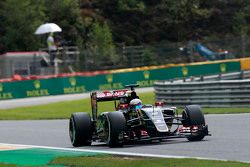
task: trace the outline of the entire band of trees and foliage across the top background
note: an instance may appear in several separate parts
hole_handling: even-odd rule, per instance
[[[42,23],[62,27],[58,36],[115,63],[113,43],[155,44],[247,35],[246,0],[1,0],[0,52],[37,50]],[[81,14],[85,10],[85,15]],[[107,56],[108,55],[108,56]]]

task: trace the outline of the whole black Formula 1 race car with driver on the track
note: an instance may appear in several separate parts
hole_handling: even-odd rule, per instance
[[[100,141],[117,147],[134,141],[183,137],[200,141],[209,135],[200,106],[186,106],[179,116],[176,107],[166,106],[163,102],[142,105],[134,90],[137,86],[92,92],[92,117],[87,112],[71,115],[69,134],[72,145],[89,146],[92,141]],[[98,114],[97,104],[102,101],[114,101],[115,111]]]

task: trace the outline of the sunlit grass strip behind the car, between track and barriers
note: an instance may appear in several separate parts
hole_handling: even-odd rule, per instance
[[[154,93],[141,93],[140,98],[144,104],[154,103]],[[98,110],[113,111],[113,102],[101,102]],[[35,119],[67,119],[74,112],[91,112],[90,99],[65,101],[47,105],[20,107],[0,110],[1,120],[35,120]],[[250,108],[204,108],[205,114],[250,113]]]

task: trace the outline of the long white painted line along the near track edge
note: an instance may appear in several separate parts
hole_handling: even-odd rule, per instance
[[[48,146],[36,146],[36,145],[23,145],[23,144],[7,144],[0,143],[0,145],[12,146],[12,147],[24,147],[27,148],[42,148],[42,149],[53,149],[61,151],[75,151],[75,152],[90,152],[90,153],[102,153],[102,154],[113,154],[113,155],[124,155],[124,156],[139,156],[139,157],[149,157],[149,158],[177,158],[177,159],[199,159],[199,160],[218,160],[218,161],[230,161],[226,159],[216,159],[216,158],[204,158],[204,157],[193,157],[193,156],[175,156],[175,155],[160,155],[160,154],[142,154],[142,153],[132,153],[132,152],[117,152],[117,151],[101,151],[101,150],[90,150],[90,149],[80,149],[80,148],[61,148],[61,147],[48,147]],[[250,163],[250,161],[238,161]]]

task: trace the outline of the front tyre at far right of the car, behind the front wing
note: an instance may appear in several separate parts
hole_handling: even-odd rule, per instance
[[[199,129],[205,127],[205,117],[199,105],[186,106],[182,113],[182,124],[185,127],[198,126]],[[187,137],[189,141],[200,141],[205,137],[205,133],[198,131]]]

